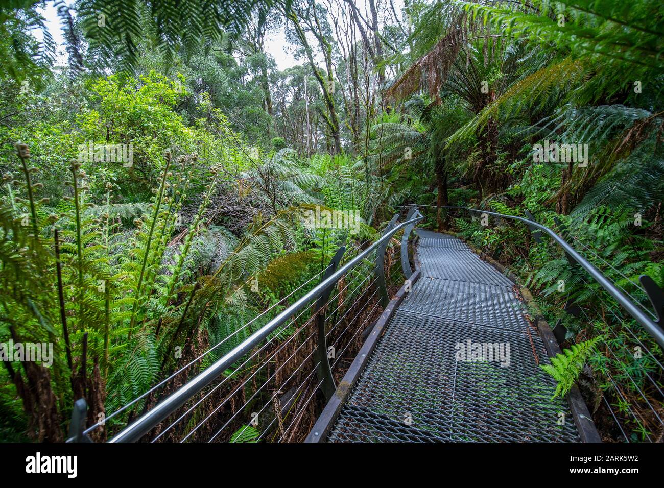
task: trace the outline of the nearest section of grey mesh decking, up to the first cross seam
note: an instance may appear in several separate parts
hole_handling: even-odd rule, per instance
[[[509,343],[509,366],[456,361],[456,344]],[[540,359],[542,340],[533,333]],[[578,442],[526,333],[396,311],[331,442]],[[558,425],[560,412],[566,422]]]

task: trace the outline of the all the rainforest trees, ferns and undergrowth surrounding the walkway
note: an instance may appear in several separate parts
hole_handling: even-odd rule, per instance
[[[0,440],[64,441],[78,398],[90,437],[110,438],[317,284],[341,244],[353,256],[422,204],[420,225],[507,266],[563,331],[556,394],[576,384],[607,442],[662,442],[647,331],[552,240],[441,208],[530,212],[653,315],[639,276],[664,286],[661,1],[9,0],[0,33],[0,342],[54,348],[50,366],[3,361]],[[307,228],[315,208],[359,221]],[[362,271],[339,294],[374,311]],[[217,440],[306,436],[315,384],[266,435],[242,411],[305,382],[258,361],[299,357],[300,325],[205,399],[234,415]]]

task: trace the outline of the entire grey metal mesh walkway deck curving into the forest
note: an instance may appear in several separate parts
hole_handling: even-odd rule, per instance
[[[533,354],[548,361],[544,343],[513,284],[461,240],[418,234],[422,278],[392,315],[328,440],[578,441],[567,402],[550,400],[555,382]],[[480,350],[481,361],[471,354]]]

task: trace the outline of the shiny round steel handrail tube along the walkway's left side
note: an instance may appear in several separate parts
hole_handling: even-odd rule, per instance
[[[238,359],[244,357],[244,355],[261,343],[280,325],[284,324],[292,315],[303,309],[307,303],[317,299],[323,295],[327,289],[333,287],[340,278],[347,274],[349,270],[355,268],[357,264],[361,263],[362,260],[371,254],[371,252],[377,250],[379,246],[386,244],[396,232],[405,226],[408,226],[408,224],[419,222],[423,218],[422,214],[420,214],[419,216],[415,216],[414,218],[406,220],[405,222],[389,229],[379,240],[371,244],[371,246],[347,262],[347,264],[327,276],[327,278],[321,281],[319,285],[305,293],[305,295],[297,299],[293,305],[290,305],[290,307],[282,311],[282,313],[271,319],[266,325],[247,337],[242,343],[234,347],[234,349],[226,353],[222,358],[208,366],[203,372],[199,373],[177,391],[164,398],[164,400],[159,402],[154,408],[145,412],[145,414],[124,428],[124,430],[119,432],[109,442],[134,442],[139,440],[143,435],[147,434],[147,432],[150,432],[150,430],[157,426],[159,422],[165,420],[165,418],[168,418],[173,412],[175,412],[175,410],[183,406],[195,394],[201,392],[205,386],[218,378],[222,372],[238,361]]]

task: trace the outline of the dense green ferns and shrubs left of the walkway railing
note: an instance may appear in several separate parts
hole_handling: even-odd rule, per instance
[[[349,159],[306,161],[289,149],[252,159],[256,148],[220,112],[187,125],[172,111],[186,93],[154,73],[124,84],[101,80],[89,93],[98,106],[66,135],[44,141],[33,127],[3,135],[6,145],[29,141],[16,146],[3,178],[3,336],[56,344],[52,368],[35,365],[23,376],[5,363],[7,438],[62,440],[77,398],[88,400],[95,424],[224,341],[197,366],[205,368],[272,317],[256,319],[261,311],[282,309],[284,296],[325,268],[342,241],[376,235],[367,224],[376,218],[366,206],[371,189]],[[117,131],[110,140],[131,132],[131,166],[80,162],[72,151],[100,140],[91,127],[104,118]],[[157,154],[165,142],[140,142],[152,127],[172,149]],[[46,163],[49,151],[61,162]],[[67,171],[54,173],[60,165]],[[306,229],[303,214],[316,206],[357,210],[357,228]],[[106,428],[124,425],[145,401]]]

